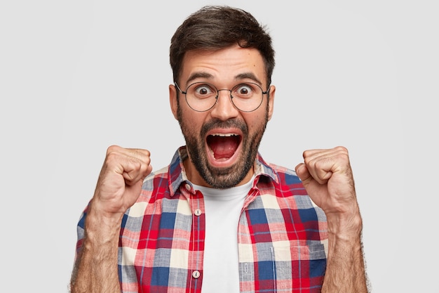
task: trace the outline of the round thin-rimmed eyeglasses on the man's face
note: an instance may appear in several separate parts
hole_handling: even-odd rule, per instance
[[[269,91],[252,82],[237,84],[232,89],[217,89],[213,84],[195,82],[190,84],[186,91],[182,91],[177,83],[177,89],[186,96],[186,103],[192,110],[205,112],[213,108],[217,103],[219,91],[230,91],[230,100],[235,108],[241,112],[255,111],[262,104],[264,95]]]

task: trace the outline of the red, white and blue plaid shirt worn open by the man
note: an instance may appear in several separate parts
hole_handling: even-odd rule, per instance
[[[170,166],[145,178],[139,199],[123,216],[118,257],[123,292],[201,292],[204,202],[184,173],[186,158],[182,147]],[[78,225],[77,252],[86,212]],[[241,292],[320,292],[325,214],[294,171],[266,164],[258,155],[237,228]]]

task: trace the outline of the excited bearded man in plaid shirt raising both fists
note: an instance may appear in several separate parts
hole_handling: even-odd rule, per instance
[[[257,151],[276,93],[264,28],[206,6],[175,32],[170,64],[186,146],[153,173],[148,150],[108,148],[72,292],[367,292],[346,148],[307,150],[295,171]]]

